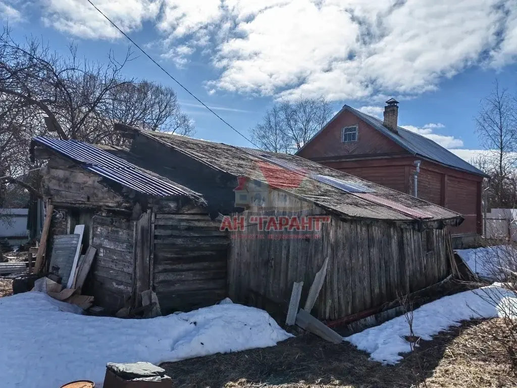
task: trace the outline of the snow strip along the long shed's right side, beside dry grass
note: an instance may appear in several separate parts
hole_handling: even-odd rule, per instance
[[[517,311],[517,299],[514,296],[496,284],[445,296],[415,309],[413,332],[423,340],[430,340],[433,335],[450,326],[459,326],[461,321],[500,316],[501,311],[505,311],[505,306],[509,304],[513,304],[511,311]],[[411,351],[409,342],[404,339],[408,335],[406,318],[400,316],[346,337],[345,340],[370,353],[370,358],[374,361],[396,364],[402,359],[400,353]]]

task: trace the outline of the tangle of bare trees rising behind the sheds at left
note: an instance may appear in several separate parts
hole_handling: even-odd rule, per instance
[[[79,59],[71,45],[60,55],[29,38],[20,44],[8,29],[0,34],[0,206],[8,185],[39,195],[17,176],[29,170],[29,143],[47,135],[89,143],[123,144],[113,130],[123,122],[151,130],[192,135],[194,127],[181,112],[172,88],[125,78],[122,61],[110,52],[106,64]],[[38,167],[38,166],[36,166]]]

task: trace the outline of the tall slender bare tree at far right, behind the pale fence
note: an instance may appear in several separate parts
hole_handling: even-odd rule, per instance
[[[506,89],[499,88],[497,81],[493,92],[481,102],[476,124],[486,150],[483,167],[491,176],[492,203],[505,207],[505,185],[517,161],[517,103]]]

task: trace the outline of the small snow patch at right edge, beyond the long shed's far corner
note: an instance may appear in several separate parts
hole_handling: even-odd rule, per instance
[[[502,280],[503,267],[510,267],[509,269],[513,270],[517,264],[517,252],[510,245],[458,249],[456,252],[470,268],[470,271],[489,281]]]

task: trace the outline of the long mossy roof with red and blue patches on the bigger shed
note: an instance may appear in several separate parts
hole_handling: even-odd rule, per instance
[[[138,130],[143,135],[166,146],[189,155],[214,169],[235,176],[247,176],[292,193],[304,200],[328,210],[353,218],[414,221],[424,219],[453,220],[459,222],[458,213],[432,203],[408,196],[404,193],[361,180],[342,171],[319,165],[295,155],[252,150],[223,143],[191,139],[168,133]],[[264,171],[264,164],[268,171]],[[300,174],[287,173],[286,170],[300,171]],[[300,175],[303,175],[300,178]],[[370,193],[347,192],[318,179],[317,175],[329,176],[351,184],[366,186]],[[278,178],[282,185],[271,184]],[[291,180],[291,182],[290,182]],[[418,217],[416,212],[425,213]],[[451,221],[452,222],[452,221]]]

